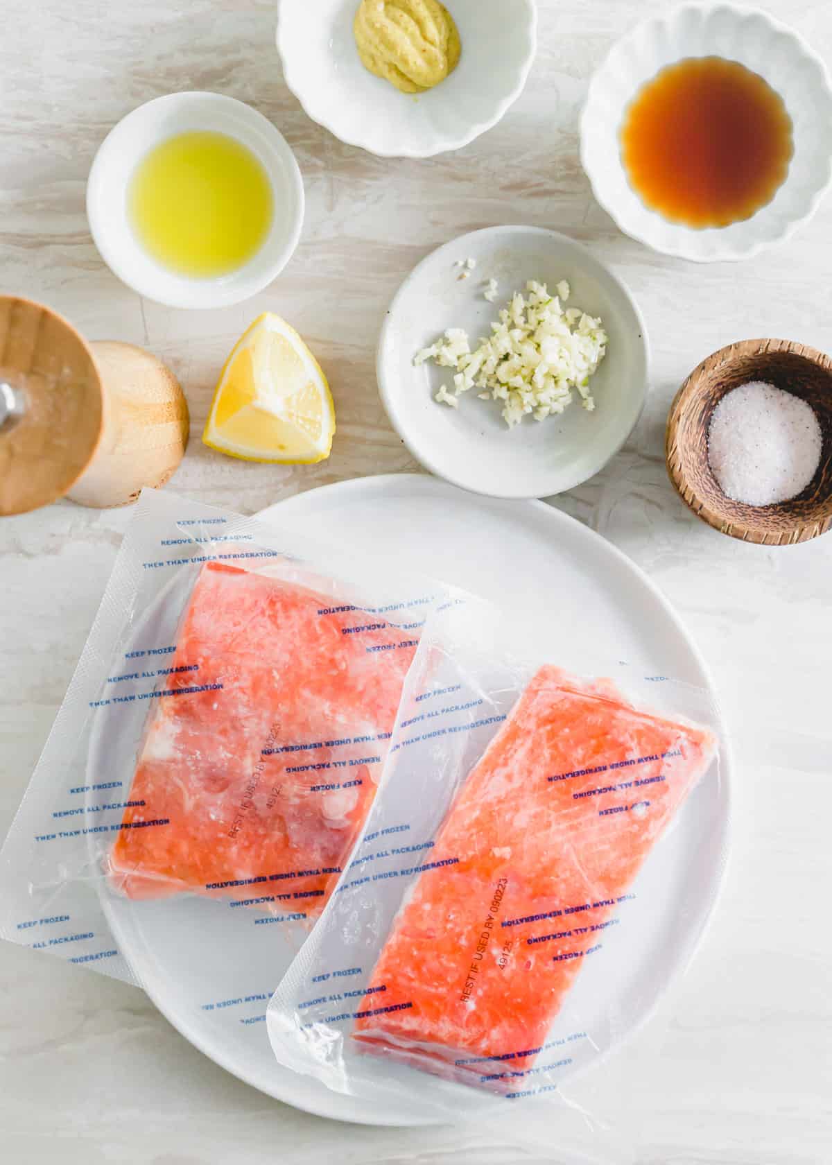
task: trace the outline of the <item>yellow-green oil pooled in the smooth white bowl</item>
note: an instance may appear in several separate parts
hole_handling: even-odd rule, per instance
[[[262,163],[227,134],[192,130],[154,147],[131,179],[128,213],[148,254],[178,275],[237,270],[272,225],[272,184]]]

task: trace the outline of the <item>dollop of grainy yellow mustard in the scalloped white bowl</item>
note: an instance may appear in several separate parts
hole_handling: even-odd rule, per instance
[[[361,0],[355,13],[361,63],[403,93],[421,93],[457,68],[460,43],[439,0]]]

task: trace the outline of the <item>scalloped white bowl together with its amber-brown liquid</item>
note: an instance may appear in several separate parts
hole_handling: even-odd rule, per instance
[[[593,76],[580,157],[626,234],[698,262],[749,259],[790,238],[830,185],[826,69],[768,13],[674,7]]]

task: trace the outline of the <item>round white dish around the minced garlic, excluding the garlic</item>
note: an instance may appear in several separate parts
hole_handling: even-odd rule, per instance
[[[475,260],[460,281],[459,260]],[[488,303],[484,281],[499,281]],[[432,361],[414,366],[419,348],[446,327],[463,327],[473,344],[528,280],[571,288],[566,306],[600,316],[607,354],[591,380],[595,409],[573,401],[559,416],[526,417],[508,429],[498,401],[477,389],[452,409],[433,400],[452,372]],[[379,389],[390,423],[422,465],[463,489],[493,497],[547,497],[591,478],[616,453],[647,394],[648,343],[641,312],[625,285],[580,243],[556,231],[495,226],[445,243],[418,263],[395,295],[379,340]],[[576,394],[577,396],[577,394]]]

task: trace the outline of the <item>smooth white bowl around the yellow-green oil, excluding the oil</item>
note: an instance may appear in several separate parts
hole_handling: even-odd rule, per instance
[[[175,134],[211,129],[247,146],[262,163],[274,217],[268,235],[242,267],[189,278],[162,267],[131,226],[127,190],[139,162]],[[303,226],[303,179],[283,135],[251,105],[219,93],[171,93],[133,110],[101,142],[86,184],[86,216],[101,257],[139,295],[168,308],[224,308],[261,291],[285,267]]]

